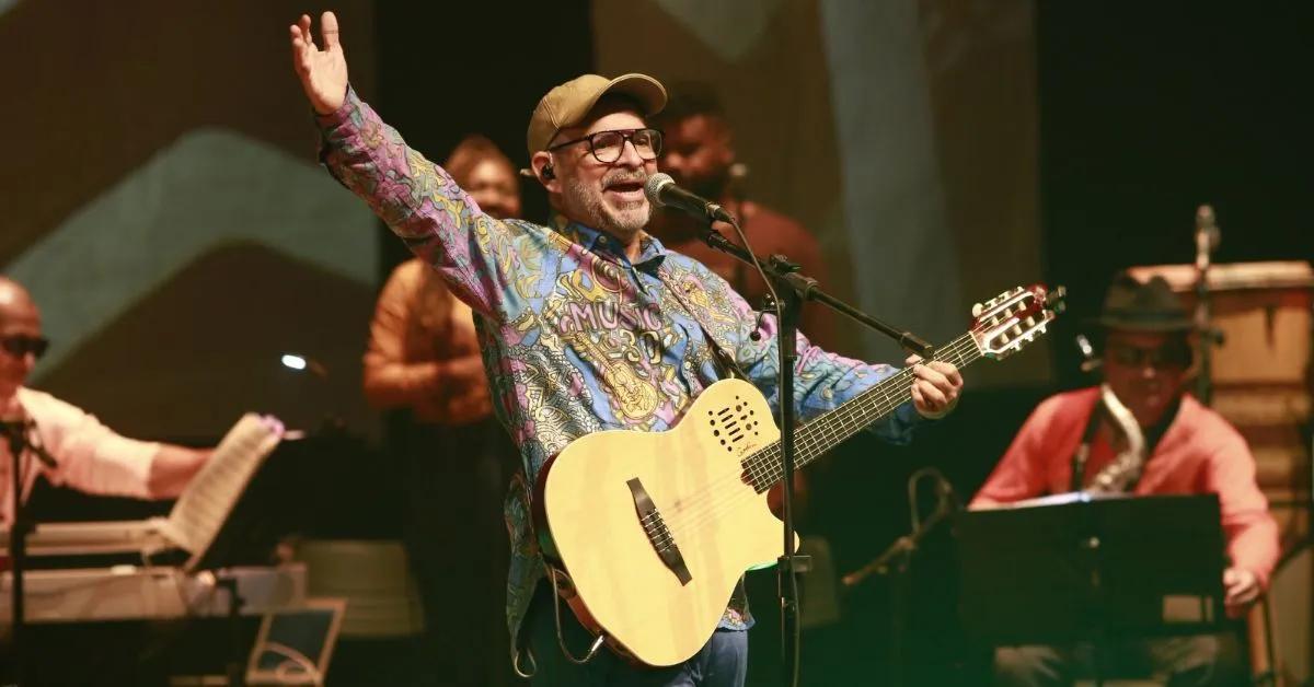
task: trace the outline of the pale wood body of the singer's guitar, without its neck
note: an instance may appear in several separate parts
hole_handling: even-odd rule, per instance
[[[570,561],[572,609],[624,637],[627,653],[644,663],[668,666],[698,653],[744,571],[784,549],[766,490],[741,465],[779,437],[761,391],[723,380],[674,430],[595,432],[566,447],[544,466],[552,478],[539,500],[552,504],[551,556]],[[640,493],[656,514],[640,515]],[[687,578],[664,562],[664,545],[673,564],[678,553]]]

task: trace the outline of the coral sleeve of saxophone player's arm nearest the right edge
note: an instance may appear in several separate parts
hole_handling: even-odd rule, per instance
[[[1277,521],[1255,481],[1255,457],[1235,435],[1209,461],[1205,491],[1218,494],[1227,554],[1235,567],[1255,573],[1268,586],[1280,556]]]

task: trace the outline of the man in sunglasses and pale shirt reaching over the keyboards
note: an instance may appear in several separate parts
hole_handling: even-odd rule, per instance
[[[176,498],[201,469],[210,449],[193,449],[120,436],[95,416],[24,384],[46,351],[41,313],[18,282],[0,277],[0,418],[22,420],[26,439],[54,458],[47,466],[32,451],[22,458],[22,498],[37,474],[88,494],[139,499]],[[13,458],[0,440],[0,520],[12,523]]]

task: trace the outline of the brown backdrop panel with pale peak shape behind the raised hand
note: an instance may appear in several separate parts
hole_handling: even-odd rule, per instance
[[[130,435],[222,433],[247,410],[369,433],[369,209],[315,164],[286,0],[0,4],[0,267],[53,347],[33,386]],[[311,8],[313,9],[313,8]],[[373,11],[335,7],[373,92]],[[284,352],[328,376],[293,373]]]

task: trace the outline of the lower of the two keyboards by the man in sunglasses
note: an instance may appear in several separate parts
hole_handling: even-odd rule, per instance
[[[306,603],[305,564],[233,567],[187,574],[177,567],[116,566],[78,570],[29,570],[22,575],[24,623],[96,623],[168,620],[229,615],[234,579],[239,613],[261,616]],[[0,623],[12,619],[13,577],[0,575]]]

